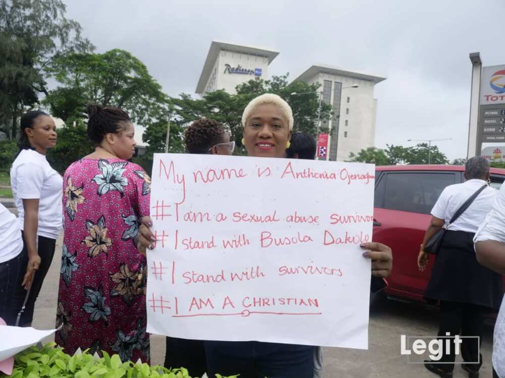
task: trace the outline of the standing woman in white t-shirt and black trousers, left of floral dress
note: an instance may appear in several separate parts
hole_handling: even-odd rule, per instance
[[[44,112],[31,111],[21,117],[19,153],[11,168],[26,266],[14,293],[15,303],[21,302],[23,308],[18,319],[20,326],[31,325],[35,300],[63,228],[63,179],[45,158],[47,149],[56,145],[56,139],[55,122]]]

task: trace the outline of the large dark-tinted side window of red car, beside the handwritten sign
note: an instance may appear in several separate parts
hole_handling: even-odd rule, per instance
[[[385,179],[384,208],[422,214],[429,214],[442,190],[456,183],[453,172],[390,172]]]

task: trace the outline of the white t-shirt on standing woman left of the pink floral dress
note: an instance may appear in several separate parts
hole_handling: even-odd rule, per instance
[[[19,227],[24,230],[23,199],[39,199],[37,235],[56,239],[63,228],[63,178],[45,155],[22,150],[11,168],[12,194],[18,208]]]

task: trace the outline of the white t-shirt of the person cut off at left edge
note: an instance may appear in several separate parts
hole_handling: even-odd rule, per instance
[[[16,215],[2,203],[0,203],[0,235],[2,235],[2,248],[0,248],[0,263],[2,263],[13,259],[23,250],[23,239]]]

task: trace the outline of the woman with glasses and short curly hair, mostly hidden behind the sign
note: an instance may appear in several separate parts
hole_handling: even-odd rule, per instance
[[[218,121],[200,118],[184,133],[184,144],[189,153],[231,155],[235,142]],[[184,366],[192,376],[202,376],[207,371],[203,340],[167,337],[165,367]]]

